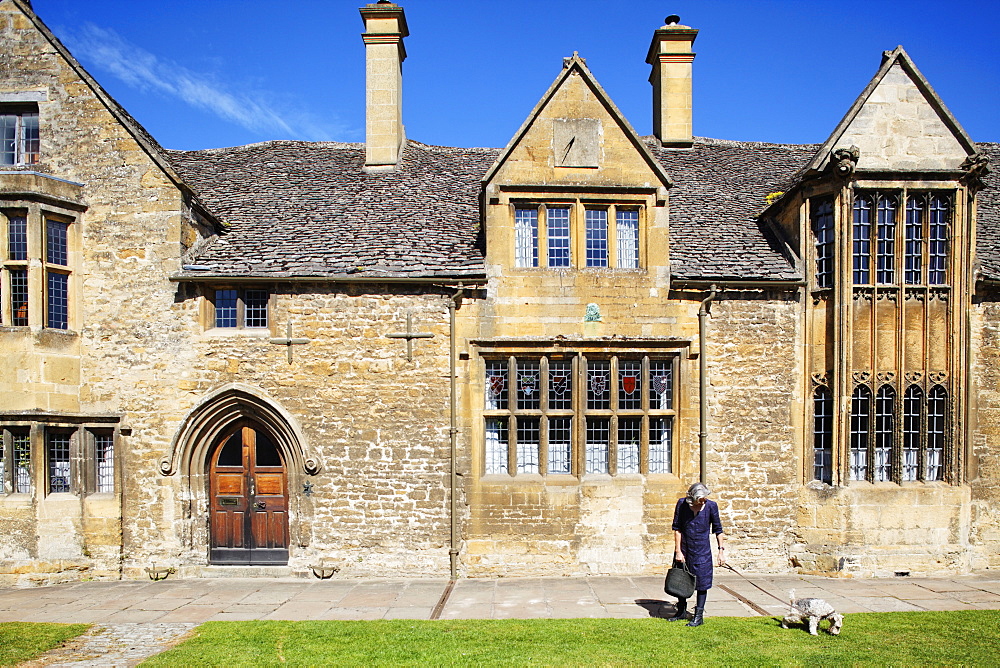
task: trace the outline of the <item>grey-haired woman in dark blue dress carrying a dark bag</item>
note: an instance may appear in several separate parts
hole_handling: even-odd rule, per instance
[[[704,483],[696,482],[688,488],[687,496],[677,500],[674,508],[674,562],[686,563],[697,578],[698,598],[695,602],[694,617],[688,626],[705,623],[705,600],[712,588],[712,542],[711,534],[719,546],[719,566],[726,565],[726,547],[719,518],[719,505],[708,498],[712,491]],[[686,619],[687,599],[677,599],[677,612],[667,621],[678,622]]]

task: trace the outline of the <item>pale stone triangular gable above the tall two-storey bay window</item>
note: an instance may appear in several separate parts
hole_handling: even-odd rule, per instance
[[[956,171],[975,144],[903,47],[883,54],[872,78],[808,169],[837,149],[860,149],[859,171]]]

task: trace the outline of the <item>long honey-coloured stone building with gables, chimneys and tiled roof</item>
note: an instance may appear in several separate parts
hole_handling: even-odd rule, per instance
[[[653,136],[574,54],[463,149],[361,16],[364,144],[170,151],[0,0],[0,585],[657,572],[699,479],[744,569],[1000,566],[1000,146],[901,47],[704,139],[670,17]]]

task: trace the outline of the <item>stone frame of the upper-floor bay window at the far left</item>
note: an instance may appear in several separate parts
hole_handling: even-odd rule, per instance
[[[27,256],[13,259],[11,252],[11,221],[24,218],[27,237]],[[65,225],[65,236],[60,247],[61,260],[50,261],[50,223]],[[5,200],[0,203],[0,326],[17,328],[41,328],[65,333],[79,329],[76,268],[79,262],[78,219],[69,209],[47,202]],[[14,310],[13,277],[23,274],[27,281],[26,320]],[[51,291],[50,277],[64,277],[60,281],[60,294]],[[56,303],[58,299],[58,304]],[[61,306],[64,310],[53,319],[53,309]]]

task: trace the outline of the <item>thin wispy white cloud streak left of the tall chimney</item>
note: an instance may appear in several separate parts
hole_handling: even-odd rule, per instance
[[[320,121],[296,105],[282,108],[266,91],[240,92],[209,74],[193,72],[131,44],[118,33],[86,23],[61,31],[70,51],[144,92],[177,98],[267,138],[331,141],[353,134],[335,119]]]

